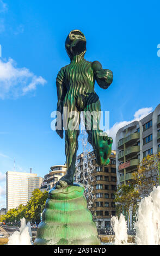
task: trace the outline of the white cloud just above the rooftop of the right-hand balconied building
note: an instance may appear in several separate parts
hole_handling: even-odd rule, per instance
[[[125,125],[128,125],[130,123],[132,123],[133,121],[139,121],[140,119],[146,117],[147,114],[151,113],[152,112],[152,107],[146,107],[146,108],[140,108],[138,109],[138,111],[136,111],[134,113],[134,118],[133,120],[131,121],[121,121],[119,123],[115,123],[109,131],[107,131],[107,134],[108,136],[112,137],[113,138],[113,146],[112,148],[115,149],[115,136],[116,136],[116,133],[118,132],[118,130],[125,126]]]

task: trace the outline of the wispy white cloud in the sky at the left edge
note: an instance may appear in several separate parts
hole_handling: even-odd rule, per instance
[[[36,76],[27,68],[17,68],[16,62],[9,58],[8,62],[0,60],[0,98],[17,98],[36,89],[46,80]]]

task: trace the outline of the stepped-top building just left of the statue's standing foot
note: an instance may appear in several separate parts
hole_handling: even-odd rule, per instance
[[[44,181],[41,184],[41,191],[49,191],[57,181],[66,174],[66,165],[51,166],[48,174],[45,175]]]

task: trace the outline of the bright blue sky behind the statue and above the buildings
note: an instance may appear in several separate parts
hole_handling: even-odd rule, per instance
[[[159,1],[0,0],[0,208],[14,159],[16,170],[32,167],[40,176],[65,162],[64,139],[50,125],[72,29],[87,38],[85,58],[113,71],[107,90],[95,84],[113,138],[159,104],[159,7]]]

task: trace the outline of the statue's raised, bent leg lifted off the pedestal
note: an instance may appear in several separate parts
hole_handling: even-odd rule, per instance
[[[88,133],[88,142],[93,146],[96,162],[100,166],[109,163],[113,140],[100,130],[101,103],[96,93],[91,93],[85,101],[84,123]]]

